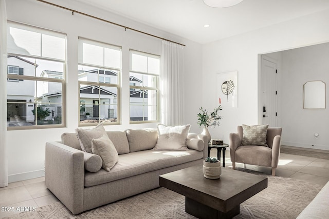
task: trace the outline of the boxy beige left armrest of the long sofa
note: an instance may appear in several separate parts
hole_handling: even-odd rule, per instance
[[[83,211],[84,154],[58,142],[46,143],[45,183],[74,214]]]

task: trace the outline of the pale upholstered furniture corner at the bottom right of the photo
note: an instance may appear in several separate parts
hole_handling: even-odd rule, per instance
[[[324,185],[306,208],[298,215],[298,219],[329,218],[329,182]]]

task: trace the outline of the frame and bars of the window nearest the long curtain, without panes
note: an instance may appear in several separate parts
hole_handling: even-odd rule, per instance
[[[132,63],[133,63],[133,54],[138,54],[138,55],[143,55],[146,57],[152,57],[152,58],[157,58],[159,59],[159,74],[156,73],[149,73],[149,72],[143,72],[143,71],[136,71],[133,70],[132,67]],[[147,76],[155,76],[156,77],[156,86],[155,87],[149,87],[149,86],[136,86],[136,85],[131,85],[131,81],[129,81],[129,95],[131,91],[136,91],[136,89],[141,90],[142,92],[145,90],[155,90],[157,95],[156,95],[156,120],[144,120],[144,107],[145,106],[154,106],[154,105],[145,105],[144,101],[142,102],[141,105],[131,105],[131,101],[130,101],[130,96],[129,96],[129,121],[130,124],[143,124],[143,123],[158,123],[160,121],[160,74],[161,74],[161,57],[160,55],[155,55],[155,54],[151,54],[148,52],[141,52],[138,50],[133,50],[130,49],[130,54],[129,54],[129,59],[130,59],[130,67],[129,67],[129,78],[131,77],[131,73],[136,73],[136,74],[141,74],[141,75],[147,75]],[[134,83],[136,84],[136,83]],[[144,99],[144,97],[143,97]],[[131,106],[142,106],[143,109],[143,120],[141,121],[131,121]]]

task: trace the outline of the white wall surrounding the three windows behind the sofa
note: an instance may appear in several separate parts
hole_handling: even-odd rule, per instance
[[[54,1],[55,2],[55,1]],[[202,46],[187,39],[160,31],[158,29],[130,21],[116,14],[108,13],[92,7],[84,7],[71,1],[56,1],[56,4],[74,10],[108,19],[109,21],[169,38],[185,44],[186,81],[185,102],[187,108],[195,101],[201,101],[200,89],[191,84],[200,82],[202,69]],[[124,130],[127,128],[156,127],[156,124],[129,124],[129,49],[161,54],[161,40],[134,31],[124,30],[83,15],[72,15],[70,11],[56,8],[32,0],[7,0],[7,18],[11,21],[22,22],[64,32],[67,34],[67,90],[66,115],[67,127],[56,129],[15,130],[7,131],[8,139],[8,175],[9,182],[25,180],[44,174],[45,143],[58,141],[63,132],[74,132],[78,127],[78,36],[96,41],[122,46],[122,77],[121,77],[121,110],[122,125],[106,126],[106,130]],[[69,109],[69,110],[67,110]],[[192,123],[196,118],[187,113],[186,121]],[[196,114],[195,114],[196,115]]]

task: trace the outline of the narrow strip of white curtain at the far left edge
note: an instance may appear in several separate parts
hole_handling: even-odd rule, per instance
[[[6,2],[0,0],[0,187],[8,186],[7,164],[7,15]]]

